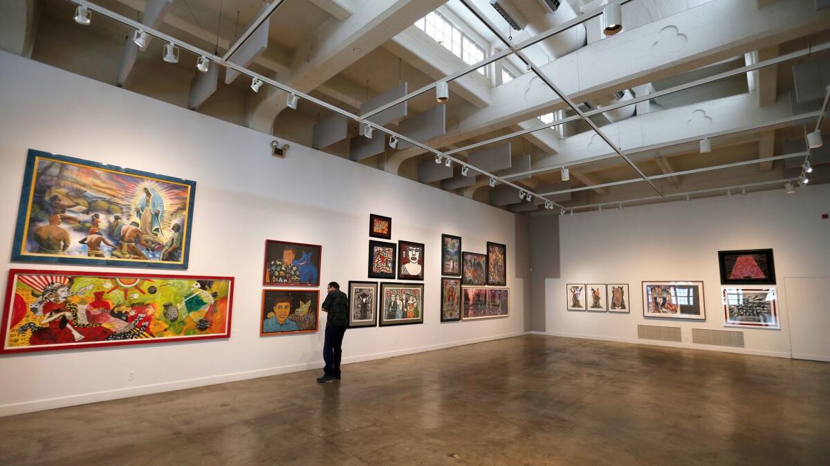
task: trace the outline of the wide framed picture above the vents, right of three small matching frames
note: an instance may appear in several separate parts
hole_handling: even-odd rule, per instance
[[[706,320],[703,282],[642,282],[643,317]]]

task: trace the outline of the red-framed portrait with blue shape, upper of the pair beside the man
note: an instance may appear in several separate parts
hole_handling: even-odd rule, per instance
[[[323,246],[266,240],[263,284],[320,286]]]

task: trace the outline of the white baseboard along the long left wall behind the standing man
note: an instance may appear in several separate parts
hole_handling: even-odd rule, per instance
[[[501,338],[519,337],[525,335],[527,332],[513,332],[502,333],[500,335],[491,335],[488,337],[470,338],[467,340],[460,340],[457,342],[439,343],[436,345],[427,345],[424,347],[413,347],[390,352],[377,352],[374,354],[366,354],[360,356],[344,357],[343,364],[351,364],[354,362],[372,361],[375,359],[383,359],[386,357],[404,356],[407,354],[415,354],[418,352],[435,351],[448,347],[460,347],[472,343],[489,342],[491,340],[499,340]],[[218,376],[198,377],[187,379],[183,381],[169,381],[157,384],[149,384],[144,386],[135,386],[129,388],[119,388],[108,391],[94,391],[90,393],[83,393],[81,395],[61,396],[57,398],[47,398],[44,400],[24,401],[22,403],[11,403],[8,405],[0,405],[0,417],[8,415],[20,415],[30,413],[33,411],[53,410],[56,408],[66,408],[67,406],[85,405],[87,403],[96,403],[99,401],[117,400],[119,398],[129,398],[130,396],[152,395],[154,393],[162,393],[164,391],[177,391],[188,388],[195,388],[198,386],[216,385],[220,383],[227,383],[232,381],[244,381],[247,379],[256,379],[259,377],[277,376],[289,372],[309,371],[311,369],[320,369],[324,366],[322,359],[320,361],[308,362],[303,364],[295,364],[291,366],[269,367],[266,369],[257,369],[255,371],[233,372],[230,374],[221,374]]]

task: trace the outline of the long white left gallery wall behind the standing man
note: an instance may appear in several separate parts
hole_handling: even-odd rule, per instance
[[[323,246],[322,301],[331,280],[344,290],[350,279],[367,280],[369,213],[393,218],[394,241],[425,243],[424,323],[351,329],[344,362],[523,331],[510,212],[294,143],[287,158],[274,158],[273,138],[266,134],[5,52],[0,52],[0,83],[0,218],[5,219],[0,264],[5,269],[236,278],[229,339],[0,356],[0,415],[322,367],[325,313],[318,333],[259,336],[265,240]],[[196,181],[188,270],[10,263],[29,148]],[[442,233],[460,235],[463,249],[473,252],[485,253],[488,240],[507,245],[509,318],[440,322]],[[0,287],[5,295],[5,279]],[[310,375],[309,384],[314,382]]]

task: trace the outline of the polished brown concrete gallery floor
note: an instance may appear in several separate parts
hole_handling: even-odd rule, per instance
[[[830,464],[823,362],[525,336],[317,372],[0,418],[0,464]]]

